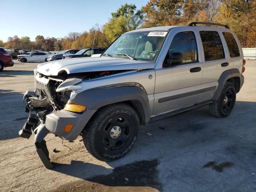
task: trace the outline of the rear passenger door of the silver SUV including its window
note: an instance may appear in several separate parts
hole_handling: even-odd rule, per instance
[[[200,95],[200,102],[211,100],[218,87],[218,80],[224,70],[230,68],[224,49],[223,38],[218,30],[199,30],[203,59],[202,89],[208,89]]]

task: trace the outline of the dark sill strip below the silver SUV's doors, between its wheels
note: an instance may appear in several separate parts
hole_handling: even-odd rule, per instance
[[[156,122],[156,121],[159,121],[159,120],[162,120],[162,119],[165,119],[165,118],[168,118],[170,116],[173,116],[173,115],[176,115],[176,114],[180,114],[180,113],[183,113],[183,112],[187,112],[187,111],[190,111],[190,110],[193,110],[193,109],[196,109],[196,108],[200,108],[200,107],[203,107],[203,106],[206,106],[210,103],[212,103],[213,100],[208,100],[208,101],[205,101],[205,102],[202,102],[202,103],[198,103],[198,104],[194,104],[192,106],[189,106],[189,107],[185,107],[185,108],[182,108],[182,109],[178,109],[178,110],[175,110],[175,111],[170,111],[170,112],[164,112],[162,114],[159,114],[159,115],[156,115],[156,116],[153,116],[149,123],[153,123],[153,122]],[[158,118],[157,120],[153,120],[153,118],[156,118],[158,116],[162,116],[166,114],[167,116],[164,116],[162,118]]]

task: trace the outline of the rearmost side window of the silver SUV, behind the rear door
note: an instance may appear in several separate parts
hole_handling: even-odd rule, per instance
[[[239,48],[238,45],[236,43],[236,39],[234,38],[234,36],[232,35],[232,33],[229,32],[222,32],[226,43],[228,45],[228,50],[229,50],[229,54],[230,57],[239,57],[240,56],[240,52],[239,52]]]

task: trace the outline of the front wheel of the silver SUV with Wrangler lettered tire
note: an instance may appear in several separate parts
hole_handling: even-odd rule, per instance
[[[102,107],[83,130],[84,145],[98,160],[116,160],[132,148],[139,126],[138,114],[130,105],[120,103]]]

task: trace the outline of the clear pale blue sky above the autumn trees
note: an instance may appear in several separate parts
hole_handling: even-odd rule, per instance
[[[145,6],[148,0],[0,0],[0,40],[9,36],[64,37],[102,26],[122,4]]]

